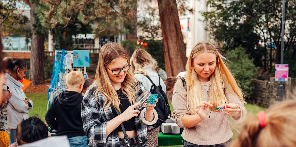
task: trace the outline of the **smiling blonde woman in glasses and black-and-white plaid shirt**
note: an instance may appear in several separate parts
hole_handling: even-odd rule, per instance
[[[135,109],[136,98],[144,86],[132,74],[126,50],[117,43],[107,43],[99,53],[94,83],[86,91],[81,104],[83,129],[93,146],[147,146],[147,126]],[[155,103],[157,103],[157,99]],[[149,104],[144,119],[154,119],[153,104]],[[118,115],[116,110],[121,114]],[[128,135],[124,139],[123,126]],[[126,142],[125,142],[126,141]]]

